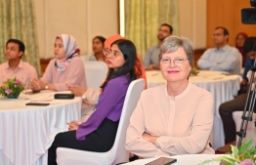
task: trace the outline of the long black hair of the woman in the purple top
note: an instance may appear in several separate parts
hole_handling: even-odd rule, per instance
[[[135,70],[135,65],[136,63],[138,63],[139,59],[137,58],[137,53],[136,53],[136,47],[133,44],[133,42],[131,42],[130,40],[126,40],[126,39],[119,39],[114,41],[112,45],[117,45],[118,49],[122,52],[123,54],[123,58],[125,60],[125,63],[118,68],[116,71],[114,71],[113,68],[109,68],[108,69],[108,73],[107,73],[107,79],[106,81],[103,83],[103,85],[101,86],[101,88],[105,88],[105,86],[107,85],[107,82],[110,79],[119,77],[121,75],[126,75],[128,74],[128,81],[129,83],[132,82],[133,80],[137,79],[138,77],[138,72],[140,71],[136,71]],[[136,68],[139,69],[140,68]]]

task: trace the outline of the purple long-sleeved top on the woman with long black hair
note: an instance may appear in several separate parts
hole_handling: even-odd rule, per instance
[[[107,82],[100,95],[99,103],[96,105],[96,111],[76,130],[76,139],[78,141],[85,140],[88,134],[97,130],[104,119],[107,118],[112,121],[120,119],[128,86],[127,75],[116,77]]]

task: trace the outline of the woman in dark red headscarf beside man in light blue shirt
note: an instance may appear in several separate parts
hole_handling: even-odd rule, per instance
[[[239,32],[235,37],[235,48],[240,52],[242,56],[242,67],[245,66],[246,54],[243,52],[243,44],[248,35],[244,32]]]

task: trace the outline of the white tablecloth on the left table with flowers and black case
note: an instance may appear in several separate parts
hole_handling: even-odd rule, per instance
[[[47,164],[47,150],[56,134],[67,130],[66,122],[81,118],[81,98],[54,100],[54,94],[0,98],[1,165]],[[50,105],[25,105],[32,101]]]

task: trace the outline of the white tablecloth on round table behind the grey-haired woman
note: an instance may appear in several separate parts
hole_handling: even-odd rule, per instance
[[[148,88],[165,84],[166,80],[158,70],[146,71]],[[190,77],[190,82],[212,93],[214,98],[214,124],[210,137],[214,149],[224,145],[225,137],[222,120],[219,114],[221,103],[231,101],[239,90],[241,77],[239,75],[227,75],[226,72],[199,70],[196,76]]]

